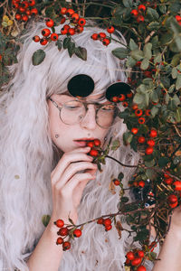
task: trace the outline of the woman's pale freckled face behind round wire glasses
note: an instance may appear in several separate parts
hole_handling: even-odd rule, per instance
[[[85,98],[87,102],[90,100],[97,100],[102,97],[102,94],[93,94]],[[59,107],[64,102],[72,100],[74,98],[68,95],[57,95],[53,94],[51,96]],[[63,152],[70,152],[78,147],[80,143],[75,140],[81,138],[99,138],[101,146],[104,144],[104,137],[108,134],[109,128],[105,129],[97,125],[96,123],[96,108],[93,104],[88,105],[88,110],[81,120],[80,123],[74,125],[64,124],[59,116],[60,111],[55,107],[50,99],[47,101],[49,107],[49,124],[51,130],[51,137],[53,143]],[[109,101],[106,101],[103,104],[109,104]],[[56,136],[55,136],[56,135]]]

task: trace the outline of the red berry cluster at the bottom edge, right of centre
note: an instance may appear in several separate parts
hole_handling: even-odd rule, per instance
[[[129,251],[126,255],[127,260],[125,262],[126,266],[138,266],[136,271],[146,271],[145,266],[140,266],[143,258],[145,257],[145,253],[143,250],[134,249],[133,251]]]

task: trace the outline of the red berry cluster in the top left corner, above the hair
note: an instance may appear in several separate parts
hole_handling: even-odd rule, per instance
[[[29,17],[38,14],[37,8],[34,7],[35,5],[34,0],[28,1],[13,0],[12,4],[14,8],[17,10],[17,13],[15,14],[15,19],[17,21],[27,22]]]

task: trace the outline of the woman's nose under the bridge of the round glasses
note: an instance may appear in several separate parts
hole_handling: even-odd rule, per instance
[[[94,130],[97,126],[96,123],[96,109],[94,105],[88,105],[87,112],[85,116],[82,118],[81,127],[86,128],[88,130]]]

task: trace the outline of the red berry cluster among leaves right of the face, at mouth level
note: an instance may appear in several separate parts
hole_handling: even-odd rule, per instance
[[[142,110],[141,110],[142,111]],[[131,133],[133,135],[137,135],[138,134],[138,128],[137,127],[133,127],[131,129]],[[148,147],[146,148],[146,154],[152,154],[153,151],[154,151],[154,145],[155,145],[155,140],[152,139],[152,138],[155,138],[157,137],[157,130],[156,129],[151,129],[150,132],[149,132],[149,137],[151,137],[150,139],[147,140],[147,144],[148,144]],[[138,143],[140,144],[144,144],[146,142],[146,138],[145,136],[138,136]]]

